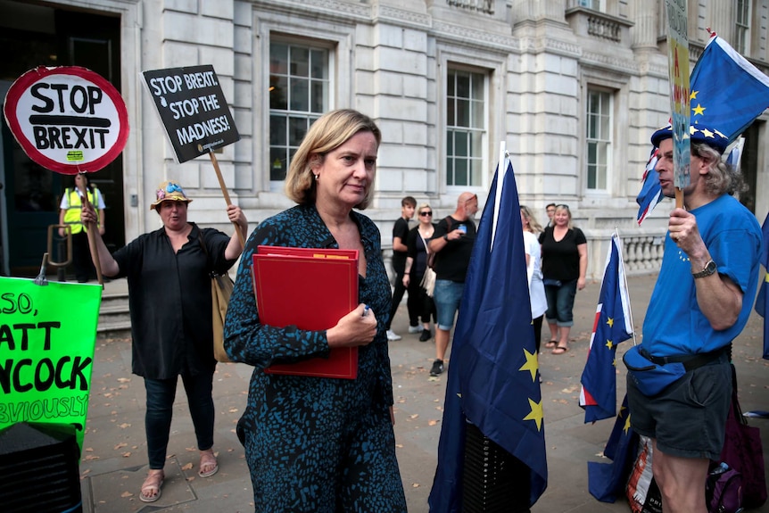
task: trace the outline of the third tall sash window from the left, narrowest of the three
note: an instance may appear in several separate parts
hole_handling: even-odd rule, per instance
[[[611,94],[588,89],[587,93],[587,188],[608,189],[611,154]]]

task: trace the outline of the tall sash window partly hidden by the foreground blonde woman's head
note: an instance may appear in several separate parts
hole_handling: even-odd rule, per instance
[[[269,45],[269,179],[283,181],[313,121],[328,110],[328,50]]]

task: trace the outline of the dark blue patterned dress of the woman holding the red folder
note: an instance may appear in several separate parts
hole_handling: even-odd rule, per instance
[[[350,215],[367,261],[366,277],[359,277],[359,302],[370,305],[378,324],[374,342],[360,346],[357,379],[263,371],[276,360],[328,355],[325,331],[261,325],[252,288],[252,255],[260,244],[338,247],[313,205],[296,206],[263,221],[249,238],[237,271],[224,346],[232,360],[254,367],[237,431],[251,470],[257,512],[406,511],[389,413],[393,381],[384,325],[390,283],[379,230],[360,213]]]

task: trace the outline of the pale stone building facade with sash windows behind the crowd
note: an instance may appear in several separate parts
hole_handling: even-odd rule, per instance
[[[689,0],[688,9],[691,66],[710,28],[769,70],[769,0]],[[291,206],[283,177],[309,123],[351,107],[383,132],[366,213],[385,248],[406,194],[438,215],[465,190],[483,206],[505,142],[521,203],[541,221],[546,203],[570,205],[590,241],[591,277],[600,278],[615,228],[630,272],[657,269],[670,204],[638,227],[635,197],[649,135],[670,116],[664,0],[0,0],[0,25],[20,54],[0,65],[2,96],[27,69],[91,67],[92,52],[102,53],[131,125],[120,161],[94,175],[116,247],[159,226],[149,204],[165,179],[194,197],[190,219],[230,229],[211,161],[175,163],[139,77],[212,64],[242,137],[217,157],[252,227]],[[30,49],[44,43],[58,51],[48,62]],[[752,192],[743,201],[760,220],[769,210],[760,193],[769,185],[766,119],[748,128],[746,144]],[[16,274],[29,258],[39,263],[37,245],[14,232],[31,219],[22,189],[36,185],[3,140],[0,270]],[[54,191],[66,185],[40,176]],[[37,213],[40,228],[45,209]]]

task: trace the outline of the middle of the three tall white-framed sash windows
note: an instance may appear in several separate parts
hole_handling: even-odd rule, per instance
[[[449,70],[446,87],[446,185],[481,186],[486,138],[484,75]]]

